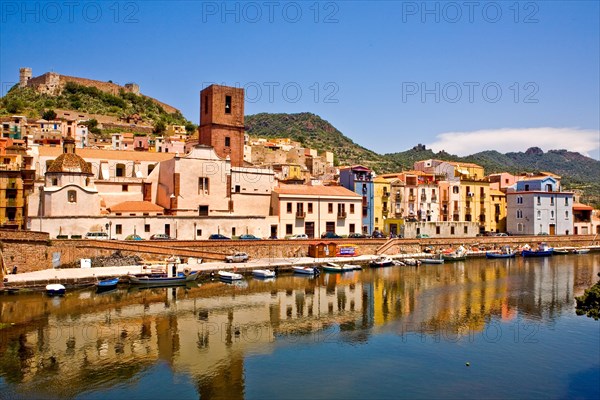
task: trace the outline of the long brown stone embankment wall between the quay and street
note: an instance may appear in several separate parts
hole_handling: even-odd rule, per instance
[[[545,241],[554,247],[599,245],[597,236],[509,236],[431,239],[341,239],[337,244],[353,244],[359,254],[399,254],[421,252],[464,245],[480,250],[494,246],[534,246]],[[295,258],[308,256],[311,243],[319,240],[260,241],[116,241],[116,240],[50,240],[44,232],[0,230],[0,250],[7,270],[14,265],[18,272],[31,272],[53,266],[77,265],[81,258],[108,257],[119,251],[123,256],[139,256],[144,260],[163,261],[169,256],[195,257],[205,261],[223,260],[234,251],[245,251],[251,258]],[[54,262],[53,262],[54,261]],[[2,272],[0,271],[0,275]]]

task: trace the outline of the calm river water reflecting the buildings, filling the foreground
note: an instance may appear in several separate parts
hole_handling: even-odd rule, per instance
[[[600,254],[0,296],[0,398],[600,398]],[[13,325],[14,324],[14,325]]]

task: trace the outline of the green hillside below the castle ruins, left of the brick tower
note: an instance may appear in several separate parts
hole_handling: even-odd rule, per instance
[[[76,110],[122,119],[137,114],[148,125],[185,125],[186,128],[189,127],[189,131],[195,130],[194,124],[180,112],[167,113],[159,104],[144,95],[125,91],[113,95],[73,82],[67,82],[64,90],[57,96],[16,85],[0,99],[0,115],[21,114],[28,118],[40,118],[45,111],[53,109]]]

